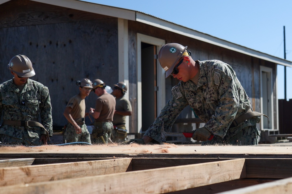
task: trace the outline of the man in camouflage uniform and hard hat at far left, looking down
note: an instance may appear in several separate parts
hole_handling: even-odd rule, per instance
[[[14,78],[0,85],[0,118],[3,119],[0,141],[46,145],[53,135],[48,88],[29,79],[35,72],[25,55],[14,56],[7,67]]]

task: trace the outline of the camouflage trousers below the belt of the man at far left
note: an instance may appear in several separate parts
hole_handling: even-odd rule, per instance
[[[39,135],[40,137],[41,135]],[[0,134],[0,141],[2,143],[13,143],[19,145],[43,145],[43,142],[39,141],[39,137],[30,137],[27,130],[24,130],[22,138],[15,138],[12,136]]]

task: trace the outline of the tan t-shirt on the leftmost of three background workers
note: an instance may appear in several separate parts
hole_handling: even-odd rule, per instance
[[[85,117],[85,99],[81,99],[79,94],[73,96],[66,107],[71,107],[71,116],[73,119]]]

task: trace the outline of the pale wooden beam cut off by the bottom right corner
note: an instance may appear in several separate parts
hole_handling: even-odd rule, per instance
[[[220,194],[290,194],[292,191],[292,177],[272,181],[268,183],[248,186],[244,188],[234,189],[231,191],[222,192]]]

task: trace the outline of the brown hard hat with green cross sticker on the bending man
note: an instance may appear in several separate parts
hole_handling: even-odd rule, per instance
[[[175,64],[183,55],[190,55],[186,50],[187,46],[178,43],[169,43],[163,45],[158,53],[158,60],[161,67],[166,71],[165,78],[171,75]]]

